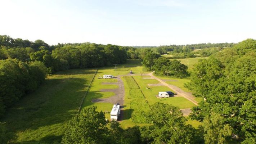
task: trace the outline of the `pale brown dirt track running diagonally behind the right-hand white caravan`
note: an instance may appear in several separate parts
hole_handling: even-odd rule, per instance
[[[160,78],[153,76],[153,72],[148,73],[148,75],[151,76],[152,78],[154,78],[154,79],[160,81],[163,85],[165,85],[165,86],[169,87],[170,89],[174,90],[174,92],[175,92],[177,95],[181,95],[181,96],[183,96],[184,98],[186,98],[187,100],[189,100],[190,102],[192,102],[193,104],[198,105],[197,101],[194,100],[194,96],[193,96],[191,93],[187,93],[187,92],[183,91],[182,89],[180,89],[180,88],[177,87],[177,86],[167,84],[166,82],[164,82],[164,81],[161,80]]]

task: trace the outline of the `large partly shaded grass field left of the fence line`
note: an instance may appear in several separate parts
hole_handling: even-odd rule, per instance
[[[60,142],[94,73],[95,69],[72,69],[49,76],[39,89],[9,108],[1,121],[17,134],[17,143]]]

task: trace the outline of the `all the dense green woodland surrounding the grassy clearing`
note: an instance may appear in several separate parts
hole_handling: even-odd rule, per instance
[[[42,40],[31,42],[4,35],[0,36],[0,46],[0,116],[55,71],[112,66],[125,63],[126,58],[142,59],[143,66],[156,74],[190,75],[191,82],[186,86],[195,96],[204,98],[199,106],[193,107],[190,116],[203,123],[199,130],[186,125],[179,108],[168,104],[151,105],[152,111],[145,114],[151,125],[128,129],[122,129],[117,122],[110,122],[108,128],[104,113],[87,107],[69,122],[63,144],[256,143],[256,40],[133,48],[89,42],[49,46]],[[189,74],[187,66],[179,60],[161,57],[167,51],[210,58],[201,60]],[[15,135],[0,122],[1,142],[10,139],[15,139]]]

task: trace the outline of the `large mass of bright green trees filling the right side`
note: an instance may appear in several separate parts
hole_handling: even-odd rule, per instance
[[[207,143],[225,143],[231,134],[237,135],[238,141],[242,143],[255,141],[255,41],[248,39],[231,50],[216,53],[214,57],[199,62],[192,72],[189,86],[194,95],[201,96],[206,101],[193,107],[191,117],[205,123],[220,121],[218,127],[205,127]],[[211,117],[212,114],[221,117],[221,120],[215,120],[216,117]],[[220,132],[221,129],[231,132],[224,135]],[[217,132],[220,135],[211,136]]]

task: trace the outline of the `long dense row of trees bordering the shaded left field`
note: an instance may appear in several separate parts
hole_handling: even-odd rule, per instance
[[[125,63],[126,48],[117,45],[31,42],[0,36],[0,117],[22,96],[34,91],[47,74],[71,68]]]

